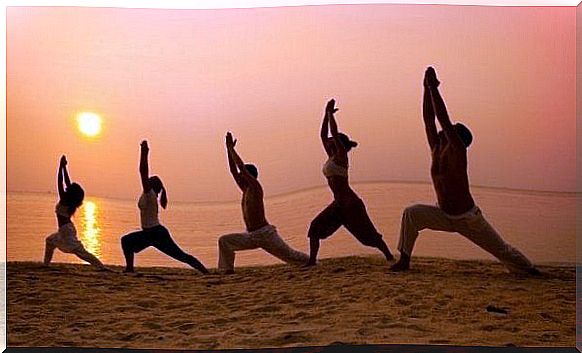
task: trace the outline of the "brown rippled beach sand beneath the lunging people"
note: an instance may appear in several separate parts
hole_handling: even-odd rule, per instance
[[[488,261],[417,258],[413,266],[391,273],[380,257],[367,256],[202,276],[185,268],[129,275],[9,262],[8,345],[575,344],[574,266],[541,266],[544,278]],[[488,312],[490,305],[508,313]]]

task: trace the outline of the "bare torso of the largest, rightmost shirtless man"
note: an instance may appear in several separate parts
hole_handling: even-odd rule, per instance
[[[439,207],[450,215],[469,211],[475,202],[469,190],[467,150],[441,141],[432,151],[431,177]]]

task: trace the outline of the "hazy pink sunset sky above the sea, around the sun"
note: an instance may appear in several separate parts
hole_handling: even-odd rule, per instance
[[[323,106],[360,146],[352,181],[429,180],[422,74],[475,136],[476,185],[574,191],[575,11],[424,5],[7,9],[7,188],[135,198],[139,142],[171,200],[238,198],[224,133],[267,195],[325,185]],[[104,119],[88,141],[78,111]]]

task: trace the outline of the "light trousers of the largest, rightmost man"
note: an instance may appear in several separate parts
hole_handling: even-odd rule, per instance
[[[412,255],[418,232],[423,229],[457,232],[495,256],[512,272],[527,272],[533,267],[519,250],[501,238],[477,206],[456,216],[448,215],[439,207],[431,205],[417,204],[406,208],[402,214],[398,250],[408,256]]]

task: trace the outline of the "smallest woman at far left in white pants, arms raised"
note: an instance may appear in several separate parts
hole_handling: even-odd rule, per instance
[[[107,270],[103,266],[103,263],[95,255],[85,250],[83,244],[77,239],[77,229],[71,221],[71,217],[77,208],[83,204],[85,192],[79,184],[71,183],[69,173],[67,172],[67,158],[65,156],[61,157],[59,163],[57,189],[59,190],[59,202],[55,207],[55,212],[57,214],[59,229],[56,233],[46,238],[44,264],[48,266],[55,249],[59,249],[62,252],[77,255],[80,259],[87,261],[100,270]]]

